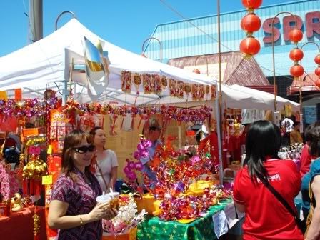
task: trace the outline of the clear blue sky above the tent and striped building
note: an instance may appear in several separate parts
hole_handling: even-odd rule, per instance
[[[186,18],[216,14],[216,0],[163,0]],[[292,0],[264,0],[262,6]],[[221,13],[244,9],[241,0],[221,0]],[[232,2],[232,4],[231,4]],[[141,53],[141,45],[156,24],[181,20],[160,0],[43,0],[44,36],[54,31],[56,17],[73,11],[79,21],[101,38]],[[29,44],[29,0],[0,1],[0,56]],[[66,14],[58,26],[69,21]]]

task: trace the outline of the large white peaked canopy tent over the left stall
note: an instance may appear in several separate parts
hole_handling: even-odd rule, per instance
[[[134,91],[129,94],[124,94],[121,91],[121,71],[131,71],[137,74],[159,74],[190,84],[216,84],[215,80],[209,79],[207,76],[161,64],[121,49],[93,34],[78,20],[71,19],[46,38],[0,58],[0,91],[24,88],[23,92],[27,96],[35,94],[32,96],[39,97],[46,86],[56,90],[59,86],[59,91],[62,94],[66,82],[69,81],[71,59],[74,64],[84,65],[84,37],[93,43],[100,41],[104,51],[108,51],[111,62],[109,65],[109,85],[98,101],[119,101],[119,104],[134,103],[136,99],[134,87],[132,88]],[[83,72],[74,71],[72,83],[79,85],[75,86],[75,97],[79,97],[81,102],[91,101],[86,94],[87,79]],[[139,92],[141,94],[136,104],[146,104],[148,101],[169,95],[168,90],[162,91],[158,95],[143,94],[142,86],[140,86]]]

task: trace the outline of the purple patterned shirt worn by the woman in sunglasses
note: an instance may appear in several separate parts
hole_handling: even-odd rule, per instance
[[[52,191],[51,200],[64,201],[69,204],[66,216],[89,214],[96,205],[96,196],[102,194],[99,182],[96,177],[86,174],[90,184],[84,180],[84,174],[79,169],[73,169],[78,181],[72,181],[69,176],[61,174]],[[91,240],[101,239],[102,224],[100,221],[93,221],[83,226],[76,226],[71,229],[59,229],[58,240]]]

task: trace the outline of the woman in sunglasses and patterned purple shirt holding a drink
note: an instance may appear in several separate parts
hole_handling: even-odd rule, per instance
[[[89,171],[94,151],[91,136],[84,131],[71,131],[64,139],[61,175],[54,184],[48,216],[49,227],[59,229],[59,240],[101,239],[101,219],[117,214],[109,202],[96,204],[102,191]]]

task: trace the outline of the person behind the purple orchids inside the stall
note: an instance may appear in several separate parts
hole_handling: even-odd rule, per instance
[[[161,145],[161,141],[159,137],[161,135],[161,126],[159,125],[159,121],[156,119],[149,120],[149,140],[151,141],[151,146],[148,148],[149,156],[145,158],[141,158],[141,164],[143,164],[142,172],[146,174],[150,181],[156,182],[156,173],[152,171],[150,166],[152,166],[154,161],[154,154],[156,152],[156,147]]]

